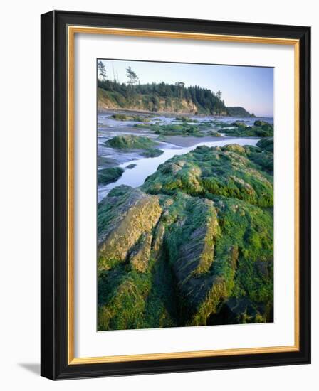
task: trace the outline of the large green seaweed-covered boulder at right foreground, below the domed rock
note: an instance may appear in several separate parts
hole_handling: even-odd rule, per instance
[[[209,324],[232,295],[271,306],[271,213],[240,200],[216,197],[213,202],[178,193],[161,220],[184,325]],[[230,317],[228,323],[236,319],[241,320]]]

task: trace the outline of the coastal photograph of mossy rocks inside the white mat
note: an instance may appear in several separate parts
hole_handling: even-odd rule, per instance
[[[97,58],[97,330],[273,323],[273,67]]]

